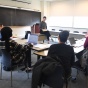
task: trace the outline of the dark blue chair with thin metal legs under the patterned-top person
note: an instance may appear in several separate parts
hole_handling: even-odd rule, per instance
[[[29,50],[26,51],[27,55],[29,57]],[[5,49],[2,50],[2,61],[1,61],[1,79],[2,79],[2,67],[4,66],[5,70],[9,70],[11,71],[11,87],[13,86],[13,76],[12,76],[12,72],[13,72],[13,68],[15,67],[15,70],[18,70],[19,65],[22,65],[22,63],[13,65],[12,64],[12,59],[11,59],[11,55],[9,52],[7,52]],[[23,62],[24,65],[24,62]],[[27,63],[27,68],[28,68],[28,63]],[[27,77],[29,79],[29,73],[28,73],[28,69],[27,69]]]

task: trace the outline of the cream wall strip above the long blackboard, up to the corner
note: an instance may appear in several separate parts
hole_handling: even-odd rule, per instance
[[[0,0],[0,5],[22,7],[26,9],[35,10],[35,11],[41,11],[40,0],[31,0],[31,4],[15,2],[11,0]]]

